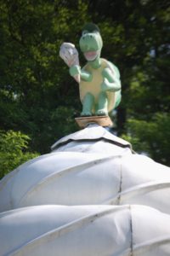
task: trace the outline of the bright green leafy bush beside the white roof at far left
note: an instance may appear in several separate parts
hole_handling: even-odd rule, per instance
[[[27,152],[29,140],[20,131],[0,132],[0,178],[38,155]]]

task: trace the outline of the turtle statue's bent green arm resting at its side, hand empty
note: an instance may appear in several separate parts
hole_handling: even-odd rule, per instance
[[[102,72],[104,81],[101,84],[102,90],[121,90],[121,80],[117,76],[117,73],[113,72],[110,67],[105,67]]]

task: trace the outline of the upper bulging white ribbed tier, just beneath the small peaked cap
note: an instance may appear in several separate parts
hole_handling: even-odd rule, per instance
[[[0,183],[1,212],[33,205],[144,204],[170,213],[170,170],[138,154],[56,152]]]

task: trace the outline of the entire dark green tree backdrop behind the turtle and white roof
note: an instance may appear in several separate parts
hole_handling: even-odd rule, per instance
[[[78,86],[59,58],[59,46],[65,41],[79,49],[89,21],[100,28],[102,56],[121,72],[115,131],[137,152],[170,164],[168,1],[1,0],[1,177],[78,130]]]

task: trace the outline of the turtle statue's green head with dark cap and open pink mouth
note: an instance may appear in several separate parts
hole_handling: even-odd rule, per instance
[[[82,29],[82,37],[79,44],[87,61],[95,61],[99,58],[103,46],[99,27],[94,23],[86,24]]]

